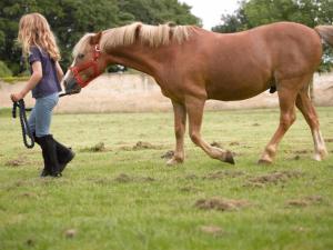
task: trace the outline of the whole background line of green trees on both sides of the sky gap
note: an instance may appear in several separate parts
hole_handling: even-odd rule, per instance
[[[71,50],[85,32],[134,21],[149,24],[168,21],[176,24],[202,24],[191,13],[189,4],[178,0],[1,0],[0,74],[20,72],[21,50],[16,44],[18,22],[22,14],[29,12],[40,12],[50,22],[58,38],[63,67],[71,61]],[[232,14],[222,14],[221,20],[222,24],[213,27],[213,31],[235,32],[275,21],[295,21],[309,27],[332,24],[333,1],[241,0],[240,8]],[[325,47],[324,51],[321,70],[327,70],[332,66],[332,49]]]

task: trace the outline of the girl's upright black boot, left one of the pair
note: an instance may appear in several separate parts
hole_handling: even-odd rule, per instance
[[[58,156],[57,156],[57,147],[53,137],[51,134],[48,134],[48,136],[40,137],[38,140],[44,158],[44,170],[42,171],[41,177],[48,174],[52,177],[61,177]]]

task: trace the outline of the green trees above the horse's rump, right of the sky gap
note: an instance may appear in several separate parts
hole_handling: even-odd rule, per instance
[[[332,0],[250,0],[242,1],[233,14],[223,14],[216,32],[235,32],[276,21],[294,21],[309,27],[333,24]],[[330,68],[332,49],[325,47],[321,70]]]

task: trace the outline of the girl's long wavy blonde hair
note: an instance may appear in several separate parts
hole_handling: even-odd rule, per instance
[[[24,14],[19,23],[18,42],[23,54],[30,52],[32,46],[44,50],[54,61],[60,60],[59,48],[47,19],[40,13]]]

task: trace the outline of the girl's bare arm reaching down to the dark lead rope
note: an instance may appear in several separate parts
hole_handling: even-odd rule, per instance
[[[32,63],[32,74],[27,82],[27,84],[23,87],[23,89],[20,92],[10,94],[10,98],[12,101],[19,101],[26,97],[26,94],[32,90],[42,79],[43,71],[42,66],[40,61],[36,61]]]

